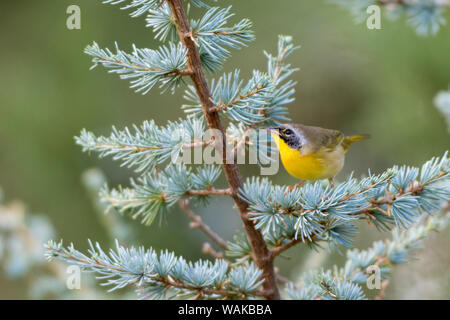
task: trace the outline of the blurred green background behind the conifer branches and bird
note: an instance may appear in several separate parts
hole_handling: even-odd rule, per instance
[[[81,30],[66,28],[70,4],[81,7]],[[264,69],[263,50],[275,52],[278,34],[292,35],[302,46],[290,59],[301,69],[295,74],[296,101],[290,105],[293,121],[372,135],[349,152],[340,178],[369,168],[380,172],[395,164],[419,165],[449,149],[446,124],[432,101],[450,83],[450,27],[424,38],[403,20],[383,17],[382,30],[368,30],[325,0],[222,1],[227,4],[233,5],[236,19],[254,22],[256,41],[234,51],[224,71],[237,67],[245,76],[254,68]],[[1,1],[0,12],[0,186],[7,200],[21,199],[34,212],[48,215],[65,243],[83,249],[90,238],[107,246],[109,239],[81,174],[100,167],[111,185],[126,185],[132,172],[83,154],[73,136],[82,128],[108,134],[112,125],[176,119],[183,115],[182,90],[173,96],[157,90],[142,96],[101,67],[89,71],[90,58],[82,51],[92,41],[110,48],[117,41],[127,50],[133,43],[157,47],[144,17],[131,19],[118,7],[92,0]],[[271,178],[276,183],[295,182],[284,169]],[[231,207],[224,201],[213,211],[198,212],[230,239],[240,228]],[[137,243],[168,248],[189,259],[204,258],[205,238],[189,229],[177,209],[161,226],[131,223]],[[362,224],[360,231],[355,242],[360,248],[386,236]],[[417,261],[397,268],[387,297],[450,298],[449,240],[449,231],[434,236]],[[290,259],[281,259],[279,267],[288,276],[344,260],[337,253],[329,255],[326,248],[314,254],[295,248],[286,255]],[[0,298],[26,297],[25,282],[0,275]]]

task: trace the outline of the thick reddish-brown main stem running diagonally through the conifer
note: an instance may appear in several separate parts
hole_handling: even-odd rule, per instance
[[[188,68],[192,71],[190,75],[196,89],[199,100],[202,104],[203,115],[208,124],[208,128],[220,130],[222,132],[222,150],[218,150],[222,155],[222,166],[225,172],[227,182],[233,191],[233,200],[244,225],[247,238],[252,248],[252,256],[256,265],[263,272],[263,290],[267,299],[280,299],[276,283],[276,275],[273,267],[273,260],[270,258],[270,252],[266,246],[264,238],[260,231],[256,230],[254,223],[248,217],[248,204],[237,196],[239,188],[242,186],[242,176],[237,164],[227,163],[226,158],[226,138],[217,112],[210,112],[214,108],[211,100],[212,94],[208,87],[206,77],[201,65],[200,53],[196,48],[195,41],[183,8],[182,0],[167,0],[172,11],[172,17],[177,24],[178,35],[181,42],[187,50]]]

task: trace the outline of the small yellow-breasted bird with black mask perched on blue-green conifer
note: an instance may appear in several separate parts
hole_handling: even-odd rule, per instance
[[[334,177],[342,170],[345,153],[355,142],[370,136],[344,136],[339,130],[307,126],[299,123],[266,127],[280,152],[286,171],[301,181],[328,179],[334,186]]]

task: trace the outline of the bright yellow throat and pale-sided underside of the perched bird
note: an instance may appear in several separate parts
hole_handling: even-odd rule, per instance
[[[291,149],[282,139],[272,135],[280,151],[286,171],[302,180],[320,180],[334,177],[344,166],[344,150],[338,146],[333,151],[318,151],[302,155]]]

